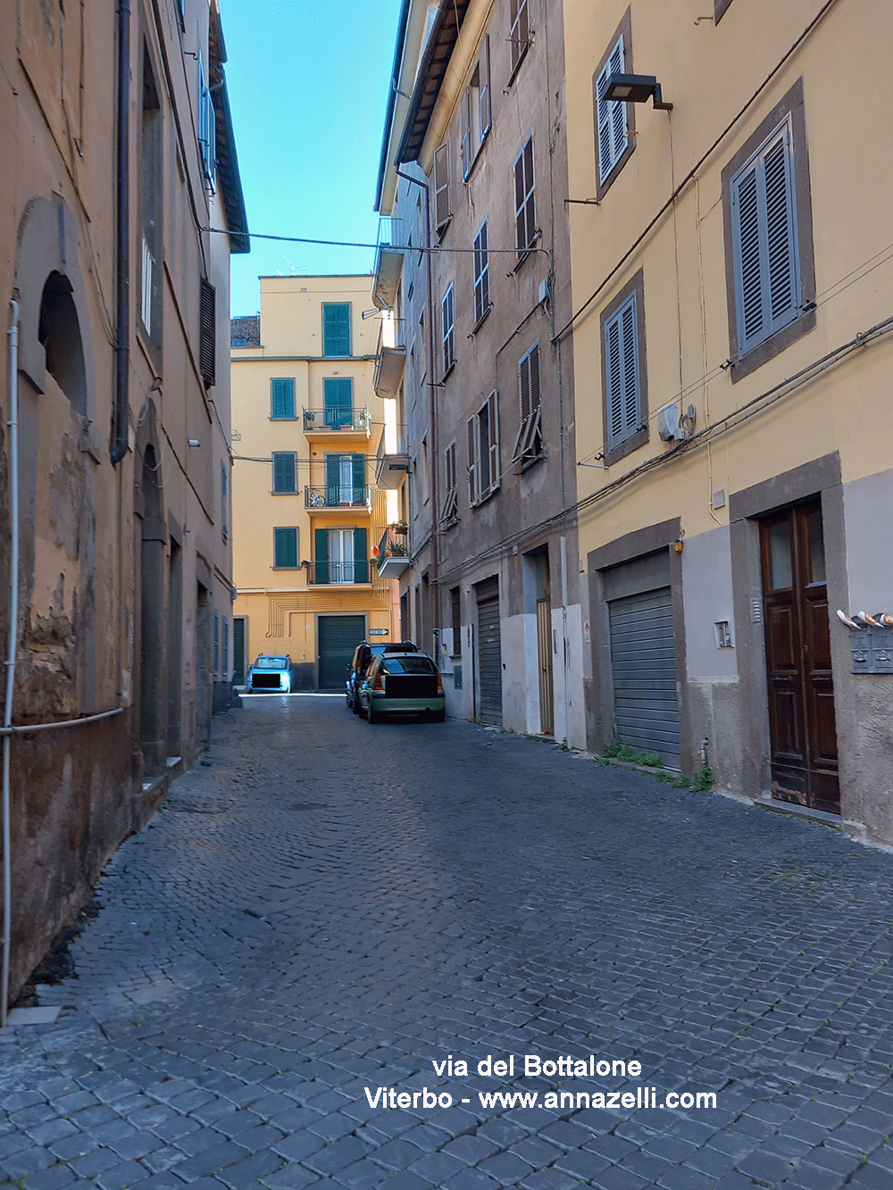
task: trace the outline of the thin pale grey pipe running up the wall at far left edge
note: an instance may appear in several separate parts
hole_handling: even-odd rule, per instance
[[[19,624],[19,303],[11,301],[10,336],[10,647],[6,656],[4,727],[12,725],[12,688],[15,681],[15,645]],[[4,735],[4,951],[0,972],[0,1029],[6,1027],[10,998],[10,934],[12,931],[12,847],[10,845],[10,740]]]

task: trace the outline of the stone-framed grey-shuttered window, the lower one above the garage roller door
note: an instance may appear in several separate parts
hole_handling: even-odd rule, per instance
[[[642,270],[601,313],[605,463],[648,441]]]

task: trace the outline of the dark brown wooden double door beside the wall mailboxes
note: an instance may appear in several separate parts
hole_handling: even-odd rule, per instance
[[[772,794],[841,813],[825,543],[818,501],[760,525]]]

